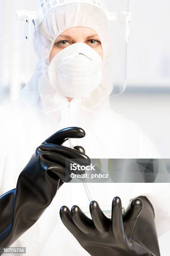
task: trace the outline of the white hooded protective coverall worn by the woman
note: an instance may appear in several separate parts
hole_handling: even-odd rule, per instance
[[[98,18],[100,17],[100,18]],[[102,87],[98,100],[73,99],[68,103],[51,86],[47,75],[49,55],[57,36],[67,28],[85,26],[100,36],[104,51]],[[109,47],[107,19],[100,8],[86,3],[72,3],[53,8],[35,29],[34,45],[39,56],[35,73],[23,88],[20,98],[0,108],[0,194],[16,187],[20,172],[46,138],[61,128],[78,126],[85,130],[82,139],[72,139],[73,146],[85,148],[90,158],[160,158],[160,154],[138,125],[117,115],[109,107]],[[88,184],[92,200],[111,205],[119,196],[127,206],[131,198],[147,196],[153,204],[158,235],[170,230],[168,184]],[[88,255],[60,220],[62,205],[87,207],[83,184],[64,184],[41,218],[13,246],[27,248],[28,256]]]

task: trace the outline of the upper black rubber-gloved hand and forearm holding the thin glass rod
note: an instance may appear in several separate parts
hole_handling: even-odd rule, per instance
[[[71,180],[68,170],[66,175],[66,160],[81,164],[79,159],[83,159],[90,164],[82,147],[75,150],[61,146],[67,138],[84,136],[81,128],[66,128],[37,147],[20,173],[16,189],[0,197],[0,247],[10,246],[25,233],[50,205],[63,182]]]

